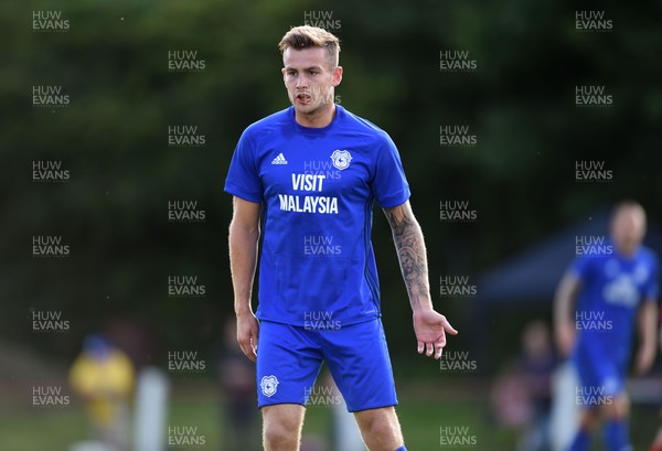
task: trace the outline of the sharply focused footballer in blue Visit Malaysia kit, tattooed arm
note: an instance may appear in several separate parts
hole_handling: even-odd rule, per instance
[[[403,451],[371,241],[375,203],[393,230],[418,352],[439,358],[446,333],[457,331],[433,308],[395,144],[333,103],[342,79],[338,39],[297,26],[279,49],[292,106],[246,128],[225,181],[237,341],[256,361],[264,447],[299,449],[305,406],[325,363],[366,447]]]

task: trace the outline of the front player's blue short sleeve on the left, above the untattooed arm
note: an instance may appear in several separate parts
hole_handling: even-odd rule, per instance
[[[261,182],[249,129],[244,131],[232,155],[224,190],[249,202],[261,202]]]

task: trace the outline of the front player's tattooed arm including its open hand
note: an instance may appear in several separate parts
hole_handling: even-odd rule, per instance
[[[401,271],[414,312],[418,353],[423,353],[425,348],[427,356],[434,354],[435,358],[440,358],[446,346],[446,333],[456,335],[458,331],[433,307],[423,232],[414,217],[409,201],[384,208],[384,214],[393,232]]]

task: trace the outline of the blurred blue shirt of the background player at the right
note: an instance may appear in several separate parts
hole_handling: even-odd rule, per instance
[[[612,253],[578,257],[570,267],[580,281],[575,313],[576,351],[581,346],[599,350],[601,355],[624,365],[637,311],[642,302],[658,298],[658,259],[643,246],[630,257],[619,255],[611,240],[605,240],[605,247]]]

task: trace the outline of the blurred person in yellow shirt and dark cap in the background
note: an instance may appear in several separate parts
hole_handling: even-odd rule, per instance
[[[89,335],[70,372],[70,384],[86,404],[94,440],[129,449],[129,398],[134,365],[100,335]]]

